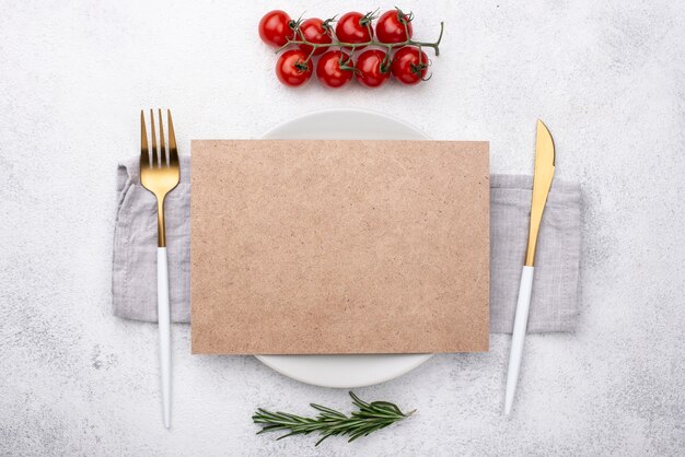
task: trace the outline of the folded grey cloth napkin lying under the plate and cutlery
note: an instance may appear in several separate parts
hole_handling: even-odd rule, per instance
[[[527,243],[533,178],[490,177],[490,331],[510,333]],[[156,321],[156,202],[139,160],[118,166],[114,314]],[[537,243],[529,332],[572,331],[579,307],[580,186],[555,179]],[[165,201],[171,316],[190,321],[190,157]]]

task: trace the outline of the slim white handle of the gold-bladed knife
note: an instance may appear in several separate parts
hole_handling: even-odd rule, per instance
[[[507,371],[507,395],[504,397],[504,414],[509,414],[513,403],[516,383],[519,382],[519,368],[523,355],[523,341],[525,328],[529,324],[529,308],[531,307],[531,291],[533,290],[534,267],[523,267],[521,272],[521,285],[519,286],[519,303],[514,316],[514,327],[511,335],[511,352],[509,353],[509,370]]]

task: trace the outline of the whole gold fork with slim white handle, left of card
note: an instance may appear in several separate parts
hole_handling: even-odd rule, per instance
[[[160,150],[158,154],[154,129],[154,113],[150,109],[152,131],[152,161],[148,152],[146,117],[140,110],[140,183],[156,197],[156,308],[160,328],[160,365],[162,371],[162,397],[164,402],[164,426],[171,425],[171,309],[169,306],[169,267],[166,263],[166,234],[164,232],[164,198],[178,185],[178,152],[171,112],[167,113],[169,156],[164,144],[164,124],[159,109]]]

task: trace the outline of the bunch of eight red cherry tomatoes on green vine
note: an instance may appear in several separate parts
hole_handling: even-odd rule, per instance
[[[417,84],[430,79],[427,71],[431,62],[423,48],[440,55],[444,24],[440,23],[436,42],[419,42],[413,38],[413,13],[405,14],[399,8],[380,15],[379,10],[349,12],[339,20],[334,16],[325,21],[292,20],[285,11],[275,10],[259,22],[259,36],[277,47],[277,54],[285,51],[276,73],[286,85],[304,84],[314,72],[329,87],[347,84],[352,75],[369,87],[382,85],[391,75],[403,84]],[[356,56],[365,47],[370,49]]]

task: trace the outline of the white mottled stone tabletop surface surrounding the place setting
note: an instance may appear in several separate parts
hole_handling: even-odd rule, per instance
[[[446,31],[433,77],[340,91],[281,86],[258,39],[272,8],[328,16],[393,2],[8,1],[0,4],[0,454],[683,455],[685,3],[405,1]],[[255,436],[256,407],[349,409],[345,390],[252,356],[194,356],[173,328],[173,427],[156,327],[111,315],[115,167],[139,109],[194,138],[257,138],[318,108],[392,114],[434,139],[489,140],[494,173],[530,174],[535,119],[557,177],[583,186],[582,307],[531,336],[502,415],[509,338],[358,389],[418,409],[347,444]]]

